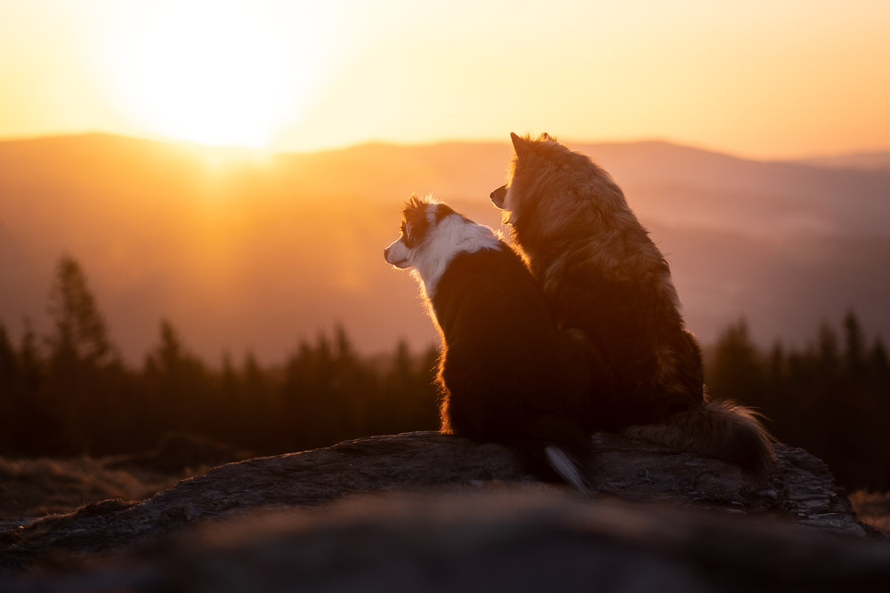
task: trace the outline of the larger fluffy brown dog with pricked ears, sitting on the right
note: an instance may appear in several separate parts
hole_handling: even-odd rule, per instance
[[[491,192],[563,330],[586,336],[598,427],[763,470],[772,437],[758,415],[710,402],[667,261],[610,175],[543,134],[513,138]]]

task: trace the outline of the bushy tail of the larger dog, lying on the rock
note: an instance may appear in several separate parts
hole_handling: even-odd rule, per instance
[[[629,427],[625,434],[764,474],[776,457],[775,438],[765,429],[762,418],[744,405],[712,400],[657,424]]]

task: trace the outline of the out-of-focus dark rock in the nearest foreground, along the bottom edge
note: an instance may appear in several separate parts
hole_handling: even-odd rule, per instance
[[[883,542],[503,486],[254,512],[85,571],[12,581],[4,591],[883,593],[888,585]]]

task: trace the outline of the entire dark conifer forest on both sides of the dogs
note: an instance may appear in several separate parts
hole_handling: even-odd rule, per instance
[[[208,365],[168,321],[141,365],[125,362],[83,268],[53,276],[52,326],[12,341],[0,322],[0,455],[101,456],[148,450],[170,434],[252,454],[437,429],[437,359],[405,342],[360,354],[343,327],[296,343],[282,364],[250,354]],[[829,464],[850,489],[890,490],[890,361],[853,311],[823,321],[802,348],[756,346],[744,319],[706,349],[708,391],[755,406],[773,435]]]

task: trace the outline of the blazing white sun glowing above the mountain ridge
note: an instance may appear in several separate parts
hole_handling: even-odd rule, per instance
[[[307,20],[282,22],[262,2],[150,4],[110,50],[111,84],[135,127],[266,148],[312,100],[323,65]]]

